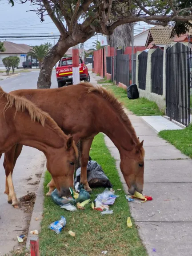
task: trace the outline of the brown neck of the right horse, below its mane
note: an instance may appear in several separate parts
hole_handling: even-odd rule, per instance
[[[128,128],[115,111],[109,111],[100,118],[102,131],[112,140],[119,152],[130,151],[136,143],[136,134],[133,127]]]

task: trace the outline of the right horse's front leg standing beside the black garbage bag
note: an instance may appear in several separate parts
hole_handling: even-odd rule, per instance
[[[89,159],[89,151],[92,145],[94,137],[81,140],[81,177],[80,177],[80,184],[84,184],[84,189],[88,192],[92,192],[92,189],[89,187],[88,180],[87,180],[87,165]]]

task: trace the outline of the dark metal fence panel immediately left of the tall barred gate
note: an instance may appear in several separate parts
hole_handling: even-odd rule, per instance
[[[163,51],[157,48],[155,52],[152,53],[151,63],[152,63],[152,92],[163,95]]]

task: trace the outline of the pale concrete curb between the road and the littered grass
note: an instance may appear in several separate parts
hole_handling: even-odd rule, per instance
[[[42,176],[40,179],[40,184],[37,190],[36,201],[33,207],[31,221],[28,229],[28,236],[26,241],[27,249],[30,249],[31,238],[38,237],[38,235],[30,234],[30,231],[38,230],[38,233],[39,233],[41,228],[40,223],[41,223],[41,220],[43,219],[43,209],[44,209],[44,205],[43,205],[44,204],[44,174],[47,170],[46,164],[47,164],[47,161],[45,160],[44,169],[43,169]],[[38,220],[36,220],[36,218],[38,218]]]

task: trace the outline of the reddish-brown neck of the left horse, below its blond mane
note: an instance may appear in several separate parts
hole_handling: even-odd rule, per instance
[[[25,112],[17,112],[12,122],[16,128],[16,134],[19,134],[20,144],[37,148],[45,154],[50,148],[64,147],[64,136],[59,135],[59,132],[47,122],[43,127],[38,122],[32,122]]]

